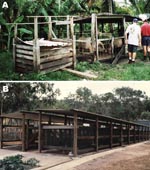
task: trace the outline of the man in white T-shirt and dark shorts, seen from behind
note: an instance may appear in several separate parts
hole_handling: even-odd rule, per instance
[[[141,28],[137,25],[138,19],[134,18],[133,23],[125,31],[125,44],[128,45],[128,63],[134,63],[138,46],[141,46]]]

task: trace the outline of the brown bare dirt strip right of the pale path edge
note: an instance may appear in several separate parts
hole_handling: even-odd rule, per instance
[[[98,157],[73,170],[150,170],[150,142]]]

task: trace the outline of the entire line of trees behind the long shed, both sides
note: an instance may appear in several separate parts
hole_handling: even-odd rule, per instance
[[[124,120],[150,120],[150,98],[141,90],[129,87],[114,92],[93,94],[87,87],[78,88],[63,100],[52,83],[0,83],[1,113],[38,108],[80,109]],[[3,92],[3,86],[9,91]]]

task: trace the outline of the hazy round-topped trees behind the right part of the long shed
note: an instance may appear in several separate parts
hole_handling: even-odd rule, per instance
[[[92,94],[92,91],[86,87],[79,88],[75,94],[70,94],[59,102],[58,106],[131,121],[150,118],[150,99],[141,90],[129,87],[117,88],[113,93],[103,95]]]

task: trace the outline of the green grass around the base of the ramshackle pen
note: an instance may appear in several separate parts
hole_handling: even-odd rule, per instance
[[[76,70],[81,72],[90,71],[98,75],[96,80],[150,80],[150,62],[141,61],[141,53],[138,53],[138,62],[135,64],[106,64],[94,62],[77,63]],[[0,80],[35,80],[35,81],[50,81],[50,80],[81,80],[82,78],[68,73],[66,71],[56,71],[48,74],[20,74],[13,71],[12,54],[8,52],[0,53]]]

